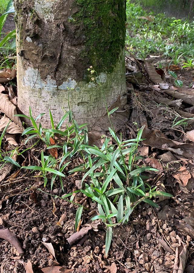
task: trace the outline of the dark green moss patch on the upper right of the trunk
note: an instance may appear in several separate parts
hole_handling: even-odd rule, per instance
[[[84,64],[98,72],[112,72],[125,46],[125,0],[75,0],[75,35],[85,36]]]

